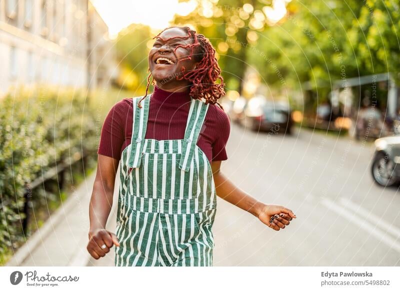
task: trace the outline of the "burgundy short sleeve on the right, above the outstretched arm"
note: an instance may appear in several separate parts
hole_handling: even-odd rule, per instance
[[[215,114],[215,141],[212,143],[212,161],[226,160],[226,143],[230,133],[230,121],[228,115],[219,107]]]

